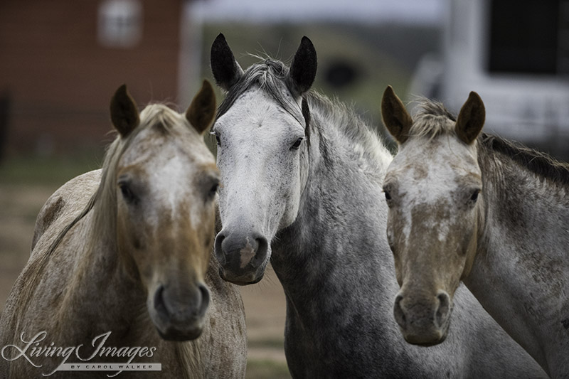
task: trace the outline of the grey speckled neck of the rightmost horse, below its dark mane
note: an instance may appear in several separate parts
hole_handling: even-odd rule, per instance
[[[464,282],[494,319],[547,368],[548,353],[569,348],[568,338],[560,341],[569,327],[568,188],[501,154],[486,151],[479,156],[484,231]]]

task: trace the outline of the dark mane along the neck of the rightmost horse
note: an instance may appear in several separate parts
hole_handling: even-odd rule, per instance
[[[569,185],[569,164],[557,161],[546,153],[490,134],[482,134],[479,142],[486,149],[508,156],[533,174],[554,183]]]

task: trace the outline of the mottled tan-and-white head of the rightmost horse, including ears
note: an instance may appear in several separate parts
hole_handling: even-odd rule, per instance
[[[450,325],[454,291],[472,267],[482,230],[475,142],[484,125],[484,104],[471,92],[454,119],[442,105],[425,101],[413,121],[388,87],[381,110],[399,145],[383,185],[400,285],[395,320],[406,341],[440,343]]]

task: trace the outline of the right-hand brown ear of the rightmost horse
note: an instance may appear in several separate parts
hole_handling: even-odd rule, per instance
[[[484,127],[485,119],[486,109],[484,108],[484,102],[482,102],[482,99],[476,92],[470,92],[457,117],[455,131],[459,139],[467,145],[472,144],[474,139],[480,134],[482,127]]]

